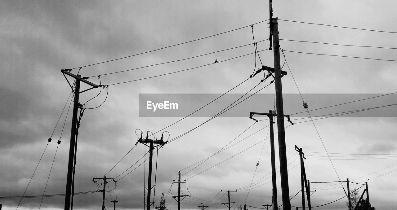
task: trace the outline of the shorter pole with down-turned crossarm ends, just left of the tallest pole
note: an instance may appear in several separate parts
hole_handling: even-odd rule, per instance
[[[271,69],[269,67],[267,67],[268,69]],[[272,160],[272,183],[273,183],[273,209],[277,209],[278,208],[278,204],[277,204],[277,183],[276,183],[276,157],[275,157],[275,152],[274,152],[274,128],[273,128],[273,115],[276,113],[273,113],[272,110],[269,110],[269,113],[259,113],[259,112],[250,112],[250,118],[255,120],[254,118],[252,118],[252,116],[254,115],[266,115],[269,117],[269,121],[270,121],[270,155],[271,155],[271,160]],[[288,121],[291,122],[291,120],[289,119],[289,115],[284,115],[285,117],[287,117]],[[255,120],[256,121],[256,120]],[[292,124],[292,122],[291,122]]]

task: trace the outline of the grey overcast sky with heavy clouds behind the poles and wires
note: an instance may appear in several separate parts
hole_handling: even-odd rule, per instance
[[[71,73],[77,74],[79,67],[243,27],[170,48],[83,67],[79,71],[81,76],[90,77],[89,81],[94,84],[110,85],[85,105],[92,108],[104,102],[96,109],[85,110],[79,128],[75,192],[96,191],[99,188],[93,183],[92,178],[104,176],[130,151],[137,142],[137,134],[140,134],[137,129],[142,130],[144,135],[146,132],[154,133],[182,118],[180,116],[140,117],[139,103],[142,101],[139,101],[139,94],[223,94],[249,78],[252,71],[261,67],[261,63],[274,67],[273,51],[266,50],[269,47],[268,21],[265,21],[269,18],[268,3],[268,1],[225,0],[0,1],[0,195],[22,196],[26,188],[25,196],[42,195],[48,177],[46,195],[65,193],[72,109],[70,107],[69,112],[67,111],[71,88],[61,69],[76,68]],[[392,0],[275,1],[273,17],[279,18],[279,38],[285,39],[280,41],[280,48],[285,50],[288,64],[283,67],[283,71],[288,72],[282,79],[283,93],[298,96],[297,100],[290,100],[289,106],[294,107],[294,111],[305,111],[303,101],[298,95],[299,91],[303,94],[304,101],[308,103],[309,110],[397,92],[395,82],[397,62],[390,61],[397,60],[397,50],[385,49],[397,48],[395,8],[397,2]],[[251,30],[252,24],[254,25]],[[255,52],[252,32],[255,42],[258,42],[258,50],[264,50],[258,53],[259,57],[254,54],[247,55]],[[212,53],[238,46],[243,47]],[[212,54],[203,55],[207,53]],[[145,67],[198,55],[203,56]],[[231,59],[241,55],[246,56]],[[214,63],[215,60],[220,62]],[[283,56],[281,56],[282,63],[284,63]],[[206,66],[199,67],[202,65]],[[135,69],[139,67],[145,68]],[[199,68],[191,69],[194,67]],[[97,76],[129,69],[135,70],[103,75],[100,76],[100,80]],[[181,71],[185,69],[190,70]],[[175,71],[181,72],[127,82]],[[263,74],[260,73],[230,93],[245,94],[260,83],[262,78]],[[73,82],[68,76],[67,79]],[[250,93],[270,84],[270,80],[271,78],[259,84]],[[127,83],[116,84],[119,82]],[[82,89],[88,87],[85,84],[81,85]],[[84,92],[80,95],[79,101],[84,103],[98,93],[99,88]],[[259,93],[274,94],[274,83]],[[305,100],[305,94],[314,93],[339,95],[336,95],[336,98],[325,96],[325,100],[318,102],[312,97]],[[343,97],[343,94],[360,95],[350,99]],[[210,96],[202,98],[192,96],[189,100],[197,103],[197,107],[201,107],[213,99]],[[234,99],[237,100],[238,97]],[[284,100],[288,100],[288,97]],[[250,106],[245,107],[244,103]],[[231,202],[235,202],[233,207],[236,209],[243,204],[254,207],[271,204],[270,139],[262,141],[268,137],[269,127],[266,127],[268,120],[257,117],[262,121],[254,124],[249,118],[249,112],[268,112],[274,109],[274,101],[270,99],[266,103],[257,103],[247,99],[244,103],[237,105],[236,109],[245,111],[246,117],[214,118],[159,149],[158,157],[157,154],[154,155],[154,166],[157,160],[154,206],[160,206],[161,193],[164,192],[166,208],[177,209],[177,202],[172,199],[172,195],[175,195],[178,189],[176,184],[172,185],[172,182],[179,170],[182,181],[187,179],[187,183],[182,185],[183,195],[191,195],[182,201],[183,209],[198,209],[197,206],[201,203],[210,206],[208,209],[225,209],[226,207],[221,203],[227,202],[227,197],[220,192],[228,189],[237,189],[231,197]],[[338,106],[337,109],[323,109],[322,114],[395,103],[397,103],[395,97],[388,95],[358,101],[349,106]],[[60,117],[64,106],[66,108]],[[191,107],[190,111],[197,110],[197,107]],[[183,108],[189,110],[189,107]],[[212,113],[222,111],[224,108],[224,105],[214,106],[201,111]],[[294,111],[286,108],[284,114],[293,114]],[[233,113],[233,109],[229,112]],[[397,171],[395,113],[395,106],[391,106],[360,112],[360,115],[318,119],[314,120],[314,123],[310,118],[301,119],[301,116],[291,118],[295,122],[293,126],[285,122],[285,126],[288,126],[285,129],[285,136],[287,158],[289,158],[287,162],[290,197],[299,192],[301,186],[299,155],[295,151],[297,145],[303,148],[307,158],[304,163],[310,182],[339,181],[339,179],[345,181],[346,178],[356,183],[368,182],[372,206],[377,210],[395,209],[397,197],[396,174],[393,173]],[[310,114],[318,116],[314,111]],[[155,137],[160,139],[161,133],[168,131],[164,133],[165,140],[168,136],[173,139],[209,118],[185,118],[158,132]],[[64,122],[66,122],[65,126]],[[260,131],[257,132],[258,130]],[[52,141],[48,143],[47,139],[51,136]],[[247,138],[244,139],[245,137]],[[62,142],[57,150],[56,142],[59,139]],[[235,140],[230,143],[233,139]],[[227,145],[228,143],[230,144]],[[333,165],[328,159],[323,143]],[[225,145],[233,146],[214,155]],[[278,167],[277,148],[276,135]],[[143,185],[147,184],[145,176],[147,176],[148,162],[144,167],[144,164],[141,164],[143,159],[140,158],[145,151],[147,152],[145,146],[138,144],[106,174],[107,178],[118,180],[117,187],[114,182],[106,186],[107,191],[110,189],[110,192],[106,193],[106,208],[113,208],[110,200],[115,199],[118,200],[117,209],[143,208],[143,202],[146,201]],[[43,156],[40,164],[35,170],[41,155]],[[214,156],[197,168],[187,168],[211,155]],[[53,160],[54,164],[49,176]],[[135,162],[137,164],[129,168]],[[256,163],[259,163],[258,167]],[[139,164],[141,166],[136,168]],[[31,179],[33,172],[35,173]],[[153,176],[154,172],[155,168]],[[127,173],[129,174],[126,175]],[[250,189],[249,185],[252,181]],[[29,187],[27,187],[28,183]],[[345,183],[343,185],[346,186]],[[280,206],[282,202],[279,178],[277,186]],[[350,189],[360,186],[351,183]],[[103,185],[100,189],[102,187]],[[345,195],[339,183],[312,183],[310,188],[316,191],[311,197],[312,206],[326,204]],[[359,195],[363,189],[358,190]],[[145,194],[147,196],[147,193]],[[18,209],[39,209],[40,201],[41,198],[0,199],[4,210],[16,209],[19,202]],[[347,198],[343,198],[316,209],[347,209],[346,201]],[[291,204],[302,206],[300,193],[291,199]],[[42,209],[63,209],[63,206],[64,196],[44,197],[41,202]],[[75,195],[73,206],[76,210],[99,209],[102,206],[102,194],[96,192]]]

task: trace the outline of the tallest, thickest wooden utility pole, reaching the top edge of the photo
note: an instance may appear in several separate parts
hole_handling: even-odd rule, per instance
[[[272,0],[269,1],[270,15],[273,14]],[[285,130],[284,130],[284,109],[283,109],[283,91],[281,87],[281,65],[280,65],[280,45],[278,37],[277,17],[270,17],[270,34],[273,36],[273,55],[274,55],[274,79],[276,86],[276,110],[277,110],[277,130],[278,130],[278,147],[280,156],[280,176],[281,176],[281,197],[283,200],[283,209],[291,210],[289,203],[289,185],[288,185],[288,168],[287,168],[287,151],[285,148]]]

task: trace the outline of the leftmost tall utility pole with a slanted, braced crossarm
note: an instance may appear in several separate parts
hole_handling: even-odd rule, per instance
[[[92,82],[87,81],[87,77],[81,77],[80,74],[74,75],[70,73],[70,69],[62,69],[61,72],[64,74],[65,78],[66,75],[71,76],[75,80],[75,89],[73,90],[73,84],[70,84],[69,80],[67,82],[69,83],[70,88],[74,92],[74,103],[73,103],[73,115],[72,115],[72,128],[71,128],[71,133],[70,133],[70,146],[69,146],[69,162],[67,164],[67,178],[66,178],[66,195],[65,195],[65,210],[69,210],[70,208],[70,197],[72,194],[72,179],[73,179],[73,162],[74,162],[74,154],[75,154],[75,147],[76,145],[76,138],[77,138],[77,111],[79,108],[79,95],[80,93],[83,93],[87,90],[91,90],[93,88],[98,88],[99,85],[93,84]],[[83,90],[80,92],[80,82],[84,82],[92,88],[89,88],[87,90]],[[73,203],[73,202],[72,202]]]

